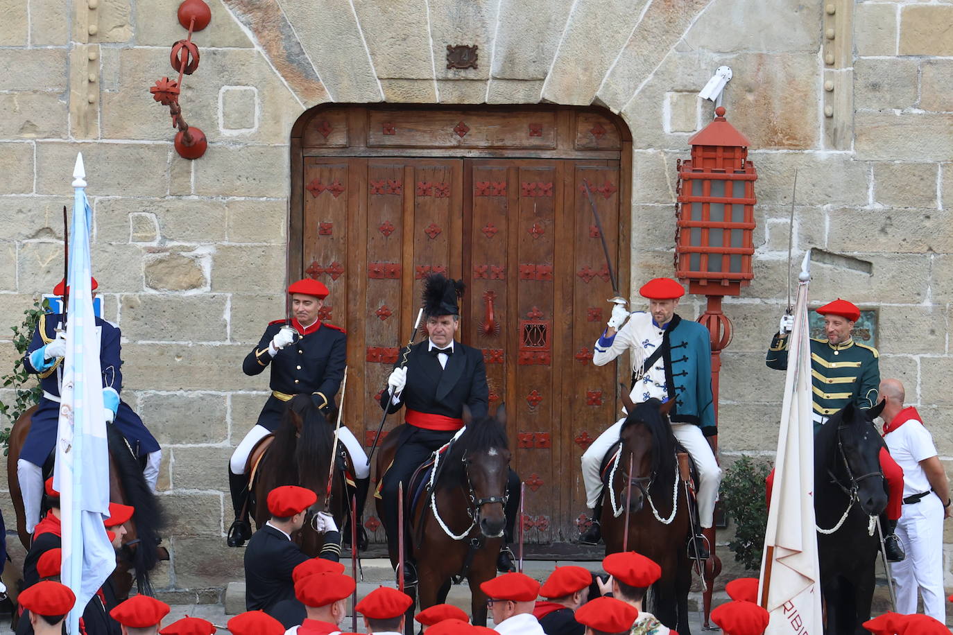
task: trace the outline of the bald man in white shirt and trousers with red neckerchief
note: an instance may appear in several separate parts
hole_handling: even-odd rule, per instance
[[[917,612],[917,591],[923,612],[946,621],[943,601],[943,519],[950,517],[949,481],[937,456],[933,437],[915,407],[903,407],[903,385],[881,382],[883,441],[903,468],[903,506],[897,535],[907,557],[891,563],[897,585],[897,612]]]

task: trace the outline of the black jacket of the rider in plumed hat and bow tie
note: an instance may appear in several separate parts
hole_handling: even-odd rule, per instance
[[[389,407],[385,387],[380,395],[380,406],[388,407],[388,412],[406,406],[418,412],[455,418],[461,417],[463,407],[467,406],[474,419],[485,417],[490,389],[486,385],[483,352],[454,342],[454,353],[447,359],[447,367],[441,369],[429,347],[430,340],[411,347],[407,355],[407,385],[397,403],[390,403]]]

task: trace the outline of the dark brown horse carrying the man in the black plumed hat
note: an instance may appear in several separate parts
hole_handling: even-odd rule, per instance
[[[503,546],[510,471],[506,438],[506,408],[497,407],[494,416],[474,420],[464,408],[466,426],[443,454],[436,455],[436,474],[425,486],[409,513],[406,535],[416,562],[418,588],[405,588],[423,610],[446,601],[450,586],[466,578],[470,585],[471,615],[474,625],[486,625],[487,596],[479,585],[497,575],[497,557]],[[382,475],[393,462],[399,427],[388,434],[377,454],[376,473]],[[378,479],[381,478],[378,476]],[[413,494],[405,491],[405,508]],[[377,514],[383,515],[376,501]],[[391,564],[397,566],[397,550]],[[414,605],[411,605],[411,611]],[[407,632],[413,625],[408,620]]]

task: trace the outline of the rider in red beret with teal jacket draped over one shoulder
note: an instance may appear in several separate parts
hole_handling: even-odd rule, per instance
[[[633,403],[649,399],[662,403],[674,400],[669,410],[672,432],[688,451],[699,470],[698,506],[702,528],[712,526],[715,502],[721,482],[721,469],[707,437],[718,434],[711,386],[711,339],[708,329],[698,322],[683,320],[675,309],[685,289],[671,278],[655,278],[639,294],[649,301],[648,311],[630,313],[616,304],[612,317],[598,338],[593,364],[603,366],[629,351],[632,382],[629,396]],[[598,544],[601,531],[598,517],[602,480],[599,464],[605,453],[618,442],[624,417],[608,427],[582,455],[582,480],[586,486],[586,505],[593,508],[593,523],[580,542]],[[708,558],[704,538],[694,537],[693,556]]]

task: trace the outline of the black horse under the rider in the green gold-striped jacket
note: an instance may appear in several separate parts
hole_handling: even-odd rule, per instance
[[[825,633],[867,632],[862,623],[870,619],[881,547],[872,523],[887,505],[880,464],[884,443],[874,427],[882,409],[883,402],[869,410],[848,404],[814,435],[814,514]]]

